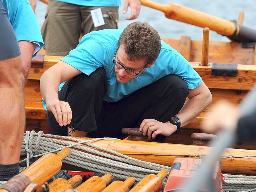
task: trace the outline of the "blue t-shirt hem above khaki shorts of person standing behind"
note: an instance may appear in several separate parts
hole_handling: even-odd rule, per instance
[[[82,5],[82,6],[98,6],[98,7],[117,7],[121,5],[121,0],[53,0],[64,3]]]

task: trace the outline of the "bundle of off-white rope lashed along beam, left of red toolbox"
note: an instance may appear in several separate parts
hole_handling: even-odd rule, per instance
[[[146,175],[157,174],[163,168],[170,170],[170,167],[168,166],[144,162],[124,154],[117,153],[116,151],[101,148],[89,143],[95,140],[115,138],[97,138],[81,141],[76,138],[48,135],[43,134],[43,132],[35,133],[34,131],[31,133],[26,132],[24,138],[25,139],[23,139],[21,148],[21,155],[27,154],[27,158],[21,160],[20,163],[27,160],[27,165],[29,165],[29,159],[32,157],[42,156],[47,153],[54,153],[65,147],[72,147],[71,154],[63,160],[64,163],[74,165],[92,172],[111,172],[115,177],[122,180],[125,180],[128,176],[131,176],[134,177],[136,181],[140,181]],[[59,138],[64,140],[57,140],[52,138]],[[65,140],[75,141],[76,143],[71,144],[69,141]],[[104,152],[80,145],[82,143]],[[79,150],[83,150],[85,152]],[[35,152],[38,154],[33,155]],[[166,179],[164,181],[166,181]]]

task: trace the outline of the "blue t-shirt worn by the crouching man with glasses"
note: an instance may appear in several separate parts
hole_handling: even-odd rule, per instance
[[[104,97],[105,101],[116,102],[121,100],[132,92],[170,74],[180,76],[187,83],[188,89],[194,89],[201,84],[201,77],[188,61],[163,41],[159,57],[151,68],[146,68],[140,76],[125,84],[119,83],[116,80],[112,59],[122,31],[123,29],[104,29],[90,32],[83,36],[76,49],[71,50],[62,59],[62,61],[86,75],[90,75],[97,68],[103,67],[106,71],[108,82],[108,91]],[[60,84],[60,89],[63,84]],[[45,107],[44,100],[43,104]]]

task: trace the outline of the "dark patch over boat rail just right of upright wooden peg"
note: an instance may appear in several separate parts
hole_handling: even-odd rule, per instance
[[[212,63],[212,75],[235,77],[237,75],[237,64],[236,63]]]

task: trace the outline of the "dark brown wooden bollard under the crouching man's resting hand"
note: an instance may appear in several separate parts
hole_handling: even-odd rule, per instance
[[[123,134],[129,135],[129,140],[132,140],[132,141],[150,141],[150,142],[155,142],[152,139],[148,139],[147,136],[143,136],[142,132],[139,131],[139,128],[123,128],[121,132]]]

